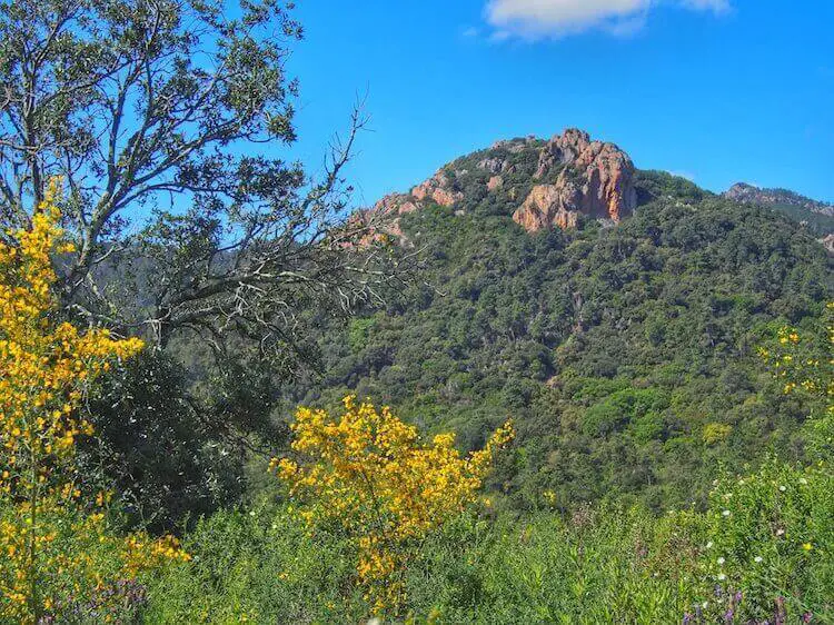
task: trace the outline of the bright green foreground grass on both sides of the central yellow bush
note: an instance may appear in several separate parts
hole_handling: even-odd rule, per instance
[[[724,623],[741,592],[733,623],[773,618],[778,597],[788,622],[813,613],[813,622],[831,623],[833,487],[824,468],[770,462],[741,482],[719,480],[705,512],[468,515],[423,545],[398,621],[679,623],[697,605],[693,622]],[[193,562],[151,583],[145,622],[359,623],[369,615],[348,542],[310,537],[284,507],[215,515],[186,547]]]

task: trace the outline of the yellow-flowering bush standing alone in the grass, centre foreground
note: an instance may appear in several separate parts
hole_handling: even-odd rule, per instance
[[[374,611],[396,612],[403,572],[419,542],[477,499],[494,453],[515,435],[513,424],[461,456],[454,434],[426,444],[387,407],[377,410],[353,396],[344,405],[338,420],[299,408],[292,449],[302,459],[271,466],[305,503],[300,515],[311,529],[335,523],[354,539],[358,578]]]

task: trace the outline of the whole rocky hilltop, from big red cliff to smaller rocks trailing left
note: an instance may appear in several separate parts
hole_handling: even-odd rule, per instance
[[[460,161],[469,165],[456,168]],[[570,228],[580,216],[617,222],[636,207],[634,172],[632,159],[617,146],[568,128],[549,141],[496,141],[440,168],[407,194],[386,196],[355,219],[385,222],[384,232],[401,236],[399,218],[428,204],[467,210],[471,195],[504,194],[515,202],[513,219],[528,232]]]

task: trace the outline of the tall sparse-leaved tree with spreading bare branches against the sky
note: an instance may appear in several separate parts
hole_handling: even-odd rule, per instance
[[[63,177],[78,244],[64,299],[87,323],[147,331],[158,347],[188,330],[218,351],[234,330],[284,355],[298,347],[300,308],[380,298],[388,272],[349,245],[365,226],[338,228],[361,113],[319,181],[259,153],[296,139],[285,63],[302,30],[290,9],[0,3],[0,211],[30,224],[47,180]]]

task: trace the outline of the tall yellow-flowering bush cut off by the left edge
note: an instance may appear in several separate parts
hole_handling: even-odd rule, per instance
[[[115,581],[186,557],[172,538],[108,534],[107,494],[81,500],[76,440],[92,434],[79,411],[85,390],[142,343],[56,319],[51,256],[72,251],[57,195],[54,181],[31,227],[0,240],[0,619],[17,623],[56,618]]]

